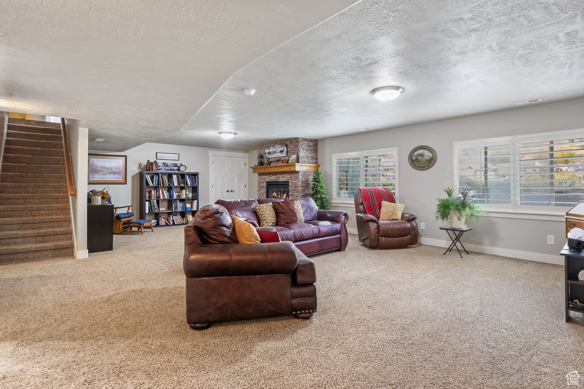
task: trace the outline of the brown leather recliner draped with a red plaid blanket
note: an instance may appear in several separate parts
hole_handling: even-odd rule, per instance
[[[365,211],[361,191],[354,195],[359,241],[373,248],[405,247],[418,243],[416,215],[402,212],[401,220],[378,220]]]

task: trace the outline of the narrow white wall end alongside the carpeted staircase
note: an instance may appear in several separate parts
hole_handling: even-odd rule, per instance
[[[87,145],[88,129],[79,127],[79,120],[65,119],[71,153],[71,167],[77,196],[69,197],[75,258],[87,258]]]

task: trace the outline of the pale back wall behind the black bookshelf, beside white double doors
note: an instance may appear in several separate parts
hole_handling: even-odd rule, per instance
[[[164,145],[161,143],[144,143],[125,152],[108,152],[99,150],[89,150],[90,154],[114,154],[127,156],[127,184],[89,184],[88,192],[92,189],[102,190],[109,186],[109,194],[112,195],[112,203],[115,206],[133,205],[131,212],[136,216],[140,213],[140,171],[145,170],[147,160],[151,162],[156,159],[156,153],[178,153],[178,161],[159,162],[179,162],[186,165],[186,171],[199,173],[199,206],[209,204],[209,155],[208,151],[232,151],[241,150],[208,149],[192,146]],[[245,153],[245,152],[244,152]],[[251,176],[251,174],[250,174]],[[85,180],[87,173],[85,173]]]

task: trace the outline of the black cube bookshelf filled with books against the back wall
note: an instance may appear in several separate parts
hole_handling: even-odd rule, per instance
[[[189,193],[188,197],[186,192]],[[168,198],[165,198],[165,194],[168,194]],[[193,200],[194,209],[187,211],[186,205]],[[147,202],[150,208],[154,204],[155,209],[149,209]],[[185,225],[188,223],[187,215],[194,216],[197,211],[199,211],[199,173],[160,170],[140,172],[140,219],[155,219],[157,223],[154,227],[166,227],[169,225],[162,225],[161,218],[168,221],[172,216],[180,216],[185,223],[173,221],[171,226]]]

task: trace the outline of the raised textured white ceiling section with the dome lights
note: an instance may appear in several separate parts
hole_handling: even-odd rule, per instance
[[[157,142],[249,150],[582,97],[583,10],[584,0],[363,0],[236,72]],[[405,91],[384,103],[369,94],[383,85]]]

